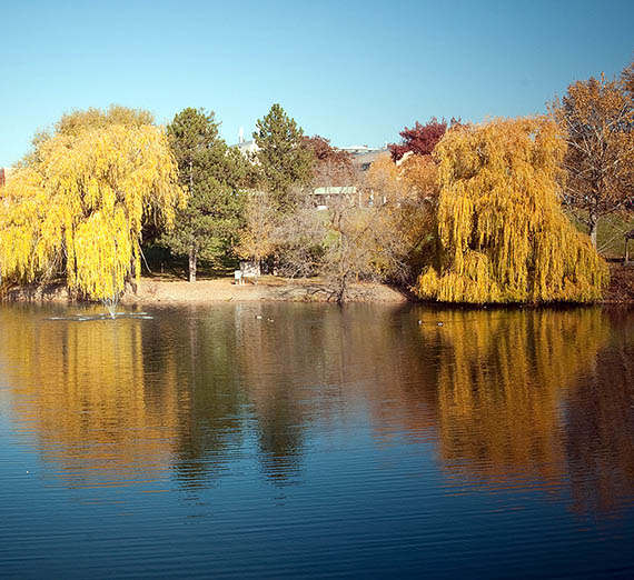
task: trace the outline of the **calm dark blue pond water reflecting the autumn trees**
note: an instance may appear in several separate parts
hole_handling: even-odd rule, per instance
[[[634,311],[146,312],[0,307],[0,577],[634,576]]]

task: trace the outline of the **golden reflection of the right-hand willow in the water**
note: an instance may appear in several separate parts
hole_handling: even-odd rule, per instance
[[[579,377],[587,380],[608,341],[604,313],[444,311],[443,318],[442,330],[419,328],[426,343],[439,342],[437,422],[449,469],[499,481],[517,473],[565,477],[561,409],[576,404]]]

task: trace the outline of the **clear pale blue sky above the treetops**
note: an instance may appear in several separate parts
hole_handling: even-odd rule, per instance
[[[634,57],[634,0],[0,0],[0,167],[65,111],[216,111],[237,141],[274,102],[336,146],[432,116],[542,112]]]

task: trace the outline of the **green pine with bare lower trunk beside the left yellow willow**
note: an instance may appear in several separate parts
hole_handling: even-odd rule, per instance
[[[199,259],[218,260],[230,247],[240,224],[241,194],[237,163],[218,136],[214,112],[184,109],[167,128],[178,163],[179,183],[189,193],[176,214],[175,228],[161,242],[175,256],[189,258],[189,281],[196,281]],[[246,162],[246,161],[241,161]]]

